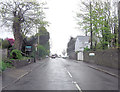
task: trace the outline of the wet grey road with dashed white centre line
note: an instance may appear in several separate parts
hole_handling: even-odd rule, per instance
[[[118,79],[82,61],[48,58],[5,90],[117,90]]]

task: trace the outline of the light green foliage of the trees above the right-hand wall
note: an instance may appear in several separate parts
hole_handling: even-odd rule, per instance
[[[86,11],[82,10],[82,12],[77,13],[78,25],[83,30],[86,30],[87,34],[90,33],[92,35],[91,41],[95,43],[93,47],[96,48],[98,44],[97,39],[100,40],[99,43],[102,49],[116,47],[118,42],[118,15],[116,14],[116,7],[114,6],[115,10],[112,10],[112,4],[109,0],[90,0],[82,2],[82,5]],[[94,39],[94,37],[96,38]]]

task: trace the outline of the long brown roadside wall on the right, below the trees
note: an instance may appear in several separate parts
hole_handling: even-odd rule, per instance
[[[89,53],[94,53],[94,56],[90,56]],[[118,67],[118,49],[108,49],[104,51],[89,51],[84,52],[84,62],[94,63],[110,68],[120,69]]]

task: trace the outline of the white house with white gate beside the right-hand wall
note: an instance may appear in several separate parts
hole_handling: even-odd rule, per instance
[[[85,47],[90,48],[89,36],[77,36],[75,42],[75,52],[77,52],[77,60],[83,60],[83,51]]]

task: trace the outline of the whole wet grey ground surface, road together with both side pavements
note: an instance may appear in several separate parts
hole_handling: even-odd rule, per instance
[[[2,88],[5,90],[57,89],[82,92],[116,90],[117,86],[118,70],[70,59],[47,58],[2,73]]]

